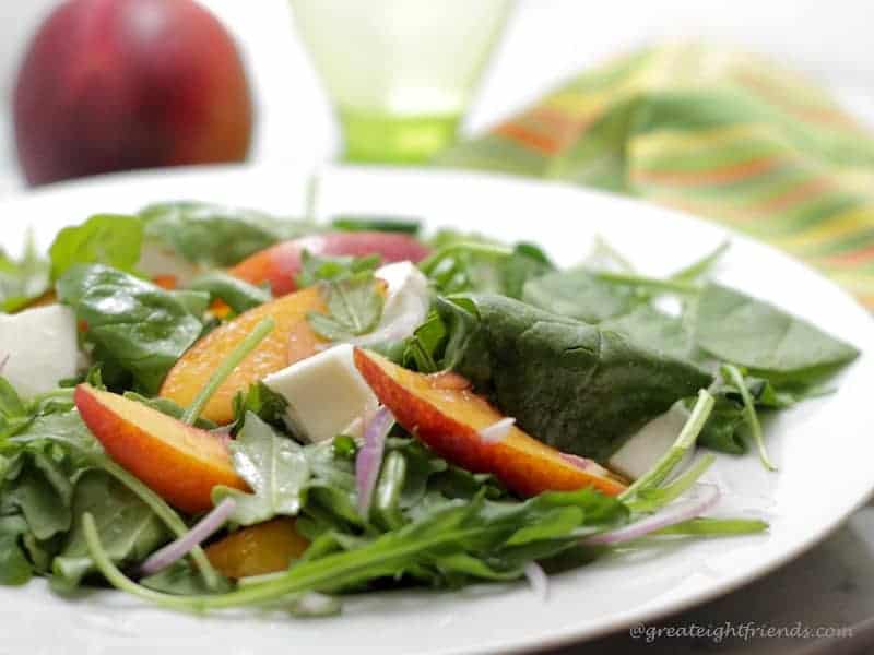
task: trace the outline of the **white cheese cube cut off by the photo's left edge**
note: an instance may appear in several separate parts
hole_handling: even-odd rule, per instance
[[[51,391],[76,373],[79,346],[75,313],[63,305],[0,314],[0,371],[19,394],[31,397]]]

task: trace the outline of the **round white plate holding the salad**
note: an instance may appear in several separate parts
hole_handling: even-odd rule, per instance
[[[125,212],[152,201],[202,199],[297,214],[303,170],[221,168],[110,177],[61,184],[2,203],[2,239],[20,243],[33,226],[47,245],[59,227],[93,212]],[[602,235],[648,273],[700,257],[725,233],[708,223],[562,184],[456,172],[333,168],[322,172],[318,212],[421,216],[428,226],[480,230],[542,243],[572,264]],[[768,426],[780,466],[755,455],[720,456],[713,467],[727,511],[765,515],[766,535],[695,540],[616,553],[555,576],[547,602],[524,584],[458,593],[395,592],[350,598],[338,618],[295,620],[251,612],[191,617],[115,592],[74,600],[38,581],[0,590],[0,652],[29,653],[507,653],[619,630],[701,603],[798,556],[858,508],[874,486],[874,322],[847,294],[802,264],[744,237],[718,277],[772,300],[853,343],[862,357],[836,381],[837,393]]]

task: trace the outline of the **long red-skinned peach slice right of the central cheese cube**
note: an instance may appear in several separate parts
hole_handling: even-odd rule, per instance
[[[570,457],[517,427],[500,441],[484,441],[479,430],[503,415],[458,376],[425,376],[375,353],[355,349],[355,366],[398,422],[450,462],[474,473],[492,473],[522,496],[593,487],[609,496],[625,486],[609,471]],[[448,383],[449,382],[449,383]]]

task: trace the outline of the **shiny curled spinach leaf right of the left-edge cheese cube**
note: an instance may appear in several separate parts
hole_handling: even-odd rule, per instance
[[[95,345],[95,358],[130,372],[147,394],[157,393],[169,368],[203,327],[191,310],[205,308],[205,295],[166,291],[99,264],[72,266],[57,288],[60,300],[87,323],[85,337]],[[196,298],[197,308],[191,302]]]

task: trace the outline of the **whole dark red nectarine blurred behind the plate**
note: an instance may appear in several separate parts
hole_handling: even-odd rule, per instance
[[[192,0],[70,0],[19,71],[15,140],[27,181],[238,162],[252,106],[237,49]]]

